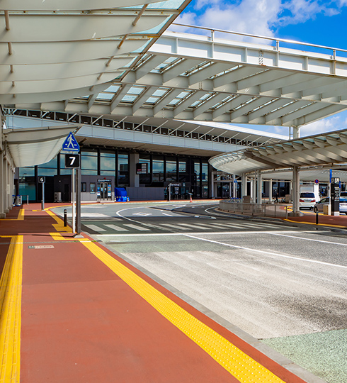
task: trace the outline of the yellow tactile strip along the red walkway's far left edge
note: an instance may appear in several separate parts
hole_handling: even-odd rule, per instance
[[[23,235],[13,236],[0,280],[1,383],[19,383]]]

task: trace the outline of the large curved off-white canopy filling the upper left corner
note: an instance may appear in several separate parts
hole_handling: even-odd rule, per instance
[[[108,88],[186,2],[1,1],[0,104],[60,101]]]

